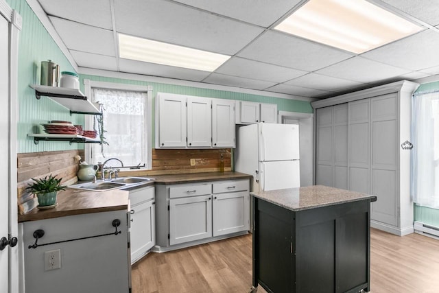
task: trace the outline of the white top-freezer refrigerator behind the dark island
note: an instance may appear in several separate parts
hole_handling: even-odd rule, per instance
[[[252,191],[300,187],[298,125],[240,126],[235,171],[253,176]]]

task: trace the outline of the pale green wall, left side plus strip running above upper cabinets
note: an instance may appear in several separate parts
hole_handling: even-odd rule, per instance
[[[6,0],[8,4],[19,12],[23,17],[23,27],[20,32],[19,40],[19,122],[18,145],[19,153],[24,152],[44,152],[56,150],[82,149],[82,143],[57,141],[40,141],[34,144],[32,139],[27,137],[27,133],[34,133],[38,124],[46,123],[49,120],[67,120],[73,124],[83,124],[82,115],[69,115],[69,110],[60,106],[47,97],[37,100],[34,90],[30,84],[39,84],[40,62],[52,60],[60,65],[61,71],[74,71],[69,60],[62,54],[62,51],[51,38],[43,24],[25,0]],[[123,80],[118,78],[104,78],[94,75],[80,75],[81,84],[84,78],[90,80],[100,80],[105,82],[117,82],[124,84],[138,84],[153,86],[154,96],[157,92],[181,93],[186,95],[198,95],[204,97],[220,97],[223,99],[237,99],[243,101],[263,102],[277,104],[279,110],[312,113],[313,109],[309,102],[296,101],[292,99],[280,99],[264,95],[250,95],[245,93],[235,93],[231,91],[217,91],[212,89],[200,89],[191,86],[176,86],[172,84],[159,84],[154,82],[140,82],[136,80]],[[83,89],[82,89],[83,90]]]

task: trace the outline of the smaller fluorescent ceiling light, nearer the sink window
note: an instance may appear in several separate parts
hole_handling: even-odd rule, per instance
[[[230,58],[126,34],[119,34],[119,57],[202,71],[214,71]]]

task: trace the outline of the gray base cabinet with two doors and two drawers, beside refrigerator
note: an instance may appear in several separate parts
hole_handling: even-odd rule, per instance
[[[156,185],[154,250],[173,250],[246,233],[249,191],[249,179]]]

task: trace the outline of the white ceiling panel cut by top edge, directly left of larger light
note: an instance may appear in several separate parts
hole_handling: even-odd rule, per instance
[[[300,0],[276,0],[276,5],[265,0],[176,0],[196,8],[222,14],[233,19],[239,19],[262,27],[269,27],[276,22],[285,12],[294,8]]]

